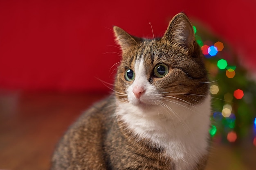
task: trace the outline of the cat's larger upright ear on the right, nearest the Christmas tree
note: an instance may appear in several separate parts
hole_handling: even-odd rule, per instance
[[[195,35],[189,18],[184,13],[175,15],[163,38],[186,48],[193,48]]]

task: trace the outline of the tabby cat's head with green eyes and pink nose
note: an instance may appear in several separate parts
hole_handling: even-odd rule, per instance
[[[173,17],[162,38],[134,37],[116,26],[114,32],[122,49],[115,80],[120,102],[145,107],[173,100],[194,105],[208,94],[202,52],[184,13]]]

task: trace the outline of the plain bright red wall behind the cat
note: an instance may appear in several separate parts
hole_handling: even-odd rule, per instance
[[[256,1],[0,0],[0,88],[102,91],[120,55],[112,26],[163,35],[183,11],[256,65]],[[246,2],[246,3],[245,3]],[[117,52],[117,53],[116,53]]]

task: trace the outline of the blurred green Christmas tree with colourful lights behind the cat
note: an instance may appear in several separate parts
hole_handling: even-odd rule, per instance
[[[256,83],[233,50],[201,26],[194,26],[210,77],[212,126],[222,142],[239,144],[250,138],[256,146]]]

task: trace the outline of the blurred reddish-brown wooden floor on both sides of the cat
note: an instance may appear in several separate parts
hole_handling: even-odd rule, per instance
[[[0,91],[0,170],[47,170],[54,146],[106,94]],[[255,170],[256,147],[213,142],[207,170]]]

